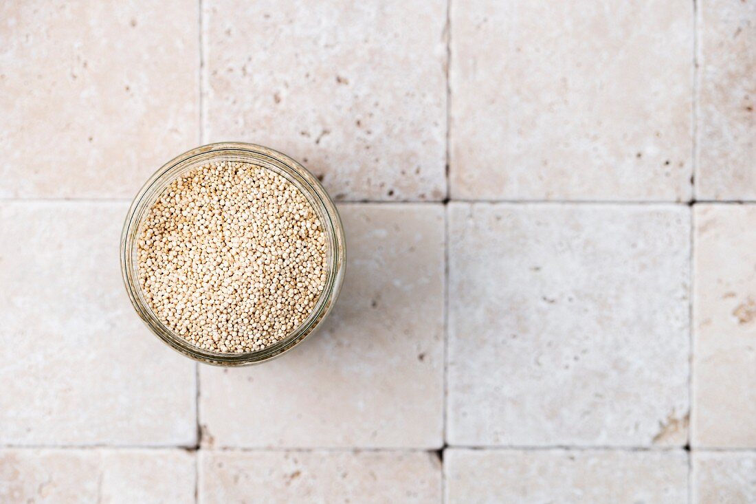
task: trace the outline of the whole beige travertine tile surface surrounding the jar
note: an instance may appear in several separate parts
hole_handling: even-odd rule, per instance
[[[756,502],[756,2],[0,4],[0,502]],[[200,143],[339,201],[316,337],[197,366],[122,218]]]

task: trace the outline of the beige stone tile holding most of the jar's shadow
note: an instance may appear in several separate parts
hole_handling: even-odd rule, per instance
[[[330,319],[273,362],[201,366],[207,443],[441,446],[443,207],[349,204],[339,211],[348,262]]]

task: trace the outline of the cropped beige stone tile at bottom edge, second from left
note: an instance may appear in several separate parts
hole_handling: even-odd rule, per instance
[[[200,451],[199,502],[441,504],[441,465],[427,452]]]

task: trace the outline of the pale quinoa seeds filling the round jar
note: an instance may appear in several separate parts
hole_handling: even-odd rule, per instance
[[[262,350],[313,310],[326,247],[318,214],[283,176],[208,163],[150,208],[138,240],[139,284],[158,319],[189,343]]]

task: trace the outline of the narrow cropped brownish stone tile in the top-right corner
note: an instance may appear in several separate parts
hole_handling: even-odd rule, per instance
[[[756,200],[756,4],[699,2],[696,196]]]

